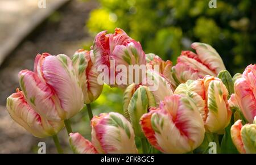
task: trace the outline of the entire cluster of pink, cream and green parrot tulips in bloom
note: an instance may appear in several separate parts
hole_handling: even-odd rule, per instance
[[[52,136],[59,153],[57,133],[64,126],[75,153],[208,153],[209,142],[216,142],[217,153],[256,153],[256,65],[232,77],[212,46],[191,46],[196,53],[181,52],[172,66],[145,54],[122,29],[100,32],[91,50],[77,50],[72,60],[38,54],[34,71],[20,71],[20,90],[7,98],[7,110],[35,137]],[[112,84],[123,89],[123,115],[93,116],[90,103],[103,88],[97,68],[111,69],[110,60],[114,67],[146,65],[147,74],[158,78],[158,89]],[[83,108],[90,117],[91,141],[73,133],[69,121]]]

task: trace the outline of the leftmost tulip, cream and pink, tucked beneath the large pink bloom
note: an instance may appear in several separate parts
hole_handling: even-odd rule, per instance
[[[53,136],[64,126],[63,121],[49,121],[36,113],[27,104],[23,92],[19,90],[7,98],[6,107],[13,120],[35,137]]]

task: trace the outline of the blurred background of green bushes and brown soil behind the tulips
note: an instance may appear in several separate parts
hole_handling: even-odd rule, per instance
[[[51,138],[32,137],[11,120],[5,108],[7,96],[19,87],[18,72],[32,69],[39,52],[72,57],[79,48],[89,49],[96,33],[105,29],[113,32],[119,27],[138,40],[144,52],[158,54],[174,64],[181,50],[191,50],[190,45],[195,41],[212,45],[232,75],[255,64],[256,1],[217,0],[216,9],[210,9],[208,3],[207,0],[72,0],[65,3],[34,28],[0,66],[0,153],[37,153],[40,141],[46,142],[47,153],[56,153]],[[1,20],[3,17],[0,27]],[[122,113],[122,91],[104,86],[92,108],[94,115],[110,111]],[[72,128],[90,139],[86,110],[72,118]],[[59,137],[65,152],[71,153],[65,130]]]

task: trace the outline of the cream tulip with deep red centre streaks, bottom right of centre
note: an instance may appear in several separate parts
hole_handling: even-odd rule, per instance
[[[204,140],[204,122],[195,102],[186,95],[167,96],[159,108],[141,117],[142,130],[163,153],[188,153]]]

